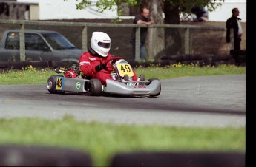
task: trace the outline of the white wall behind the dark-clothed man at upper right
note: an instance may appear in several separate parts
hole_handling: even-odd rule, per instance
[[[226,22],[232,16],[232,9],[237,7],[240,11],[241,22],[246,22],[246,0],[225,0],[225,2],[214,12],[208,12],[209,21]]]

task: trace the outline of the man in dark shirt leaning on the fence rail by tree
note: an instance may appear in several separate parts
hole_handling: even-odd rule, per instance
[[[149,18],[149,8],[148,7],[142,7],[140,10],[140,14],[135,16],[134,18],[134,24],[146,24],[147,26],[150,26],[151,24],[154,24],[154,20]],[[135,60],[135,31],[136,29],[131,32],[131,46],[132,46],[132,60]],[[146,59],[146,49],[145,49],[145,40],[147,37],[148,28],[142,27],[140,29],[140,59],[145,60]]]

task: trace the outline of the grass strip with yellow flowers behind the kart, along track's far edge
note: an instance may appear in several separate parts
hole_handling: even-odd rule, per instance
[[[146,78],[169,79],[184,76],[206,75],[233,75],[245,74],[246,67],[234,65],[220,65],[217,67],[198,67],[197,65],[174,64],[171,67],[138,67],[137,75],[145,74]],[[29,67],[24,70],[10,69],[0,73],[0,85],[2,84],[45,84],[50,75],[56,75],[52,69],[34,69]]]

